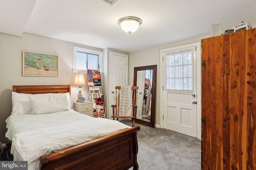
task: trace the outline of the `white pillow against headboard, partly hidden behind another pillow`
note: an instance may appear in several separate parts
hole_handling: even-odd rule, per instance
[[[16,93],[12,92],[12,113],[11,115],[21,115],[31,113],[32,106],[28,96],[48,96],[56,93],[47,93],[47,94],[24,94],[24,93]],[[68,100],[68,108],[71,109],[71,100],[70,93],[58,93],[58,95],[66,96]]]

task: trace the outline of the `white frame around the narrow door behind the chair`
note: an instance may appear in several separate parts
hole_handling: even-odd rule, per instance
[[[111,107],[111,97],[112,97],[112,91],[111,91],[111,81],[112,81],[112,76],[111,76],[111,68],[112,68],[112,55],[118,55],[121,57],[126,57],[126,83],[128,84],[128,55],[120,54],[120,53],[114,53],[114,52],[109,52],[109,84],[108,84],[108,96],[109,97],[109,106],[108,106],[108,112],[107,112],[107,117],[109,119],[112,119],[112,107]]]

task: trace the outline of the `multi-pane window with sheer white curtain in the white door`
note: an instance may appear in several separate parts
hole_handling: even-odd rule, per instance
[[[193,48],[165,53],[166,90],[193,92],[193,54]]]

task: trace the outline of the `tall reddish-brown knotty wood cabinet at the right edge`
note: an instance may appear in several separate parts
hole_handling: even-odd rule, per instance
[[[202,169],[256,169],[256,29],[201,45]]]

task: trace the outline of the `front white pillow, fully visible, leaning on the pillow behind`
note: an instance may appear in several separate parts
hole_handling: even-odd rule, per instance
[[[53,94],[47,96],[28,96],[31,106],[32,114],[53,113],[57,111],[69,110],[68,99],[66,95]]]

